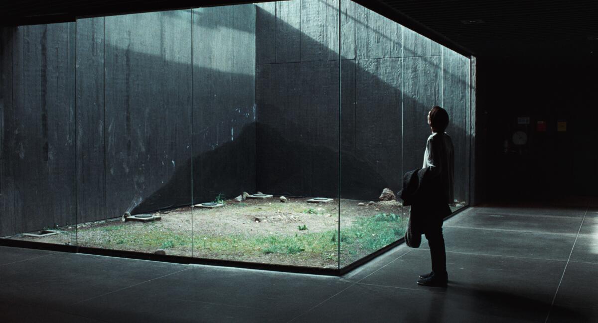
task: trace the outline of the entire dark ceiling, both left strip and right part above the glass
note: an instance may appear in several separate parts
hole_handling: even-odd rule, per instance
[[[250,1],[7,1],[0,5],[0,21],[2,24],[73,21],[75,17],[241,2]],[[463,54],[594,57],[591,52],[598,50],[598,0],[356,2]]]

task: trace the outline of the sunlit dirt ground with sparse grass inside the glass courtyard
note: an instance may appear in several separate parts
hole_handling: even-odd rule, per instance
[[[335,268],[338,243],[334,235],[339,227],[341,233],[349,232],[356,223],[363,225],[377,215],[391,213],[405,220],[390,223],[390,226],[406,226],[408,207],[396,201],[367,205],[368,202],[334,199],[313,204],[306,198],[280,202],[277,197],[242,202],[227,200],[224,207],[212,209],[182,207],[160,211],[154,213],[161,216],[161,220],[155,222],[114,219],[62,227],[57,235],[10,238],[147,253],[160,249],[176,256]],[[371,233],[371,236],[376,238],[376,234]],[[367,238],[372,239],[369,235]],[[341,266],[370,252],[361,250],[364,247],[360,243],[353,244],[359,251],[341,255]]]

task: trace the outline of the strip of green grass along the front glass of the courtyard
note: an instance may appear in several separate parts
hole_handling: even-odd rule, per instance
[[[306,213],[309,210],[306,210]],[[351,226],[341,229],[341,262],[352,262],[402,238],[406,226],[407,219],[393,213],[359,217]],[[304,231],[307,230],[307,226],[303,224],[298,226],[298,229]],[[228,259],[236,259],[239,255],[251,257],[279,254],[321,257],[322,260],[329,262],[338,257],[338,230],[260,236],[201,235],[196,232],[193,243],[190,232],[167,229],[160,222],[119,222],[79,230],[81,245],[117,250],[152,251],[157,248],[191,250],[193,245],[198,254],[217,254],[219,257]]]

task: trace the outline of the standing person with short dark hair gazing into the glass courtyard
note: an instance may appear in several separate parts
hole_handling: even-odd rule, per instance
[[[426,143],[423,155],[423,167],[426,173],[427,190],[425,202],[412,205],[420,214],[425,214],[423,233],[428,239],[432,272],[420,275],[419,285],[446,287],[447,274],[446,252],[444,250],[443,220],[451,214],[449,204],[453,203],[454,155],[453,141],[445,133],[449,125],[449,113],[440,106],[432,107],[428,112],[428,124],[432,134]]]

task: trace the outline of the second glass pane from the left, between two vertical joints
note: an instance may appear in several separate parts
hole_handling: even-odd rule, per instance
[[[191,256],[190,23],[190,10],[77,21],[81,247]]]

